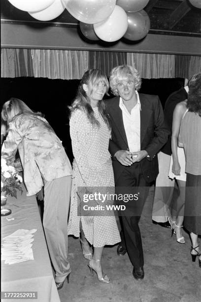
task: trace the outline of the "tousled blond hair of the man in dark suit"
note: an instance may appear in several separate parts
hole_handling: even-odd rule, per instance
[[[132,77],[134,80],[135,90],[141,87],[141,78],[138,71],[129,65],[121,65],[112,69],[109,77],[111,91],[114,95],[118,95],[117,85],[119,81]]]

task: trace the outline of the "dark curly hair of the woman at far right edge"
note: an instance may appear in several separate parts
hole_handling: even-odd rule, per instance
[[[201,73],[194,75],[189,81],[187,108],[189,112],[201,116]]]

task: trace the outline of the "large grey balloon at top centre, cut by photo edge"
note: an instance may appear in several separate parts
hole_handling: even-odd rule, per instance
[[[62,0],[68,12],[77,20],[94,24],[109,17],[116,0]]]

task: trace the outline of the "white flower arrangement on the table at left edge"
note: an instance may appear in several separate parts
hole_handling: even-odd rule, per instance
[[[17,198],[17,189],[22,193],[22,188],[20,186],[22,183],[22,177],[16,172],[12,165],[12,162],[5,160],[1,157],[1,194],[11,195]]]

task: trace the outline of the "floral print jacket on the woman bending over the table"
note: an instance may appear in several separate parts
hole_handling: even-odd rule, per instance
[[[24,168],[28,196],[36,194],[42,188],[43,180],[52,181],[72,174],[62,142],[41,116],[22,113],[9,123],[1,156],[12,157],[17,149]]]

